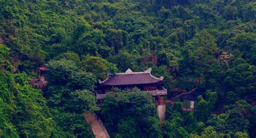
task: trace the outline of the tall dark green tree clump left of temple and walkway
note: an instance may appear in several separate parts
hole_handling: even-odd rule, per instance
[[[47,64],[46,79],[51,86],[45,92],[49,107],[63,137],[93,137],[82,113],[97,111],[96,76],[84,71],[77,54],[66,52]]]

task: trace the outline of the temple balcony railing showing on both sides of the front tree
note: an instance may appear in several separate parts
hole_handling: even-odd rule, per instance
[[[167,89],[163,87],[163,89],[157,89],[154,91],[143,91],[145,93],[150,93],[151,96],[164,96],[167,95]],[[105,93],[98,93],[96,92],[96,99],[97,100],[103,100],[106,96]]]

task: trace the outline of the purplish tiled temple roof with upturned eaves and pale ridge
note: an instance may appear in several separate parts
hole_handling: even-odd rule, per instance
[[[154,84],[163,81],[163,79],[164,77],[154,77],[151,74],[151,68],[144,72],[132,72],[129,68],[125,73],[117,73],[104,81],[99,80],[99,84],[105,86]]]

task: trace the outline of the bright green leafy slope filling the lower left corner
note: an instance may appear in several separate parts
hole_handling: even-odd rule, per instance
[[[58,126],[52,120],[41,91],[29,85],[25,73],[0,73],[1,137],[58,137]]]

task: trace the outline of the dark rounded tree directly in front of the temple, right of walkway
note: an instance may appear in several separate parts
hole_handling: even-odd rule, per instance
[[[131,93],[132,92],[132,93]],[[114,137],[159,137],[160,122],[151,96],[138,89],[114,89],[100,105],[105,126]]]

